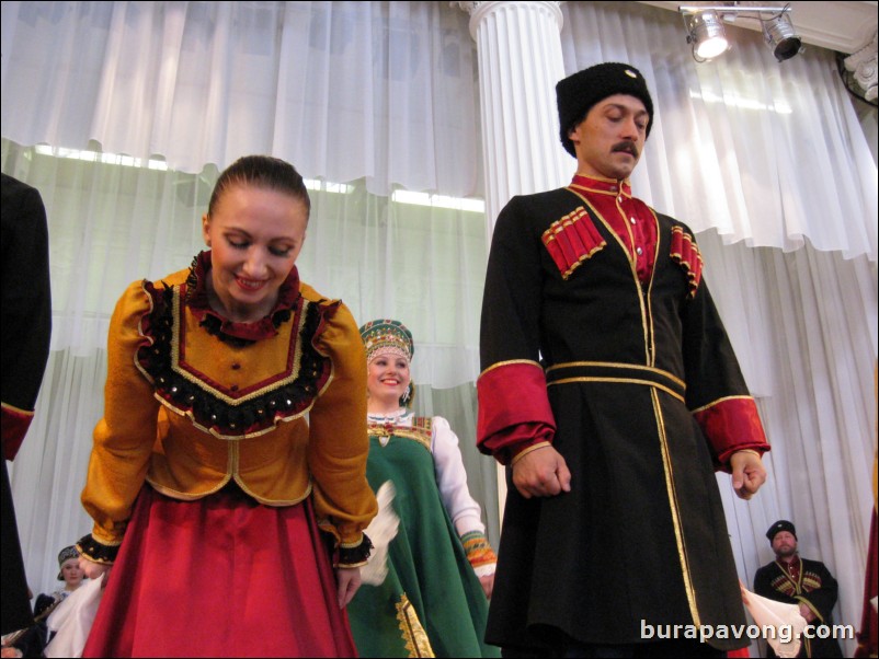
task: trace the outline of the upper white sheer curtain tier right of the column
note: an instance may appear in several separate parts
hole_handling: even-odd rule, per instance
[[[808,236],[876,261],[876,164],[833,53],[807,48],[778,63],[758,32],[728,26],[733,50],[697,65],[676,12],[636,2],[562,11],[566,71],[626,61],[648,80],[655,125],[632,176],[643,199],[727,242],[789,251]]]

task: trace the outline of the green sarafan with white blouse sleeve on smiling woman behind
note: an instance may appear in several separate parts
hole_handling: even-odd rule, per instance
[[[445,448],[435,459],[437,442]],[[459,474],[449,476],[449,470]],[[376,492],[392,484],[399,525],[387,547],[384,581],[365,582],[349,605],[361,657],[500,657],[483,640],[488,600],[459,536],[484,539],[484,527],[448,423],[406,409],[370,416],[366,475]],[[379,548],[373,559],[380,560],[381,539],[374,540]],[[488,567],[493,570],[493,563]]]

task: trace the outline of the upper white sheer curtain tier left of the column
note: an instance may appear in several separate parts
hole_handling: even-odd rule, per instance
[[[159,155],[272,153],[307,177],[478,189],[473,47],[444,2],[3,2],[3,136]]]

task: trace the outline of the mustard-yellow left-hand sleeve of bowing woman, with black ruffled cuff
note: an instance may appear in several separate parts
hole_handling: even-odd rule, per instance
[[[115,559],[156,441],[159,402],[136,363],[137,349],[149,343],[140,323],[151,304],[144,284],[132,284],[110,321],[104,417],[94,429],[81,497],[94,528],[79,543],[80,552],[99,563]]]

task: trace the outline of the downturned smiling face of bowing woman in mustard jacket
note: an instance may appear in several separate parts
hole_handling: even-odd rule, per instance
[[[307,226],[305,204],[288,193],[248,184],[229,187],[213,215],[202,219],[212,250],[208,290],[221,307],[216,311],[233,322],[271,313],[302,248]]]

